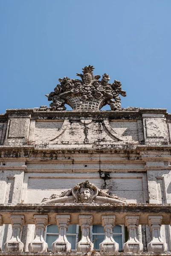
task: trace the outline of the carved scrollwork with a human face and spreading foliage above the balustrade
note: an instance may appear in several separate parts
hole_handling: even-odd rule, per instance
[[[93,203],[94,199],[99,196],[102,198],[112,198],[112,199],[116,199],[117,202],[120,201],[120,203],[125,203],[126,199],[125,198],[119,198],[117,195],[110,195],[108,192],[99,189],[97,186],[95,186],[93,183],[90,183],[88,180],[86,180],[85,182],[79,183],[75,186],[72,187],[72,189],[68,189],[67,191],[64,191],[63,193],[61,193],[61,195],[51,195],[50,198],[43,198],[42,202],[46,202],[48,201],[48,203],[50,203],[50,201],[54,201],[54,199],[56,198],[58,201],[58,199],[62,198],[62,197],[74,197],[73,203]]]

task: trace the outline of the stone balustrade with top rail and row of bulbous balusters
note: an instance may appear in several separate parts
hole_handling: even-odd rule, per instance
[[[59,207],[60,206],[60,207]],[[22,227],[35,224],[35,239],[30,241],[29,252],[47,252],[44,231],[49,224],[58,225],[58,238],[52,243],[52,252],[70,253],[71,244],[67,240],[67,228],[70,224],[81,226],[81,239],[77,243],[78,253],[94,251],[90,241],[90,227],[99,224],[104,227],[104,241],[100,244],[100,253],[118,253],[119,244],[113,239],[113,227],[125,224],[129,238],[124,244],[125,253],[143,251],[143,244],[138,240],[139,224],[146,224],[151,229],[151,242],[148,252],[165,253],[167,244],[161,238],[161,225],[170,224],[170,204],[17,204],[0,205],[0,225],[12,224],[12,237],[6,241],[4,251],[23,252],[24,244],[20,240]]]

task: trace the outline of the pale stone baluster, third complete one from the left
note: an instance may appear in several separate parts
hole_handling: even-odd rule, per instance
[[[52,252],[67,252],[71,251],[71,244],[67,240],[67,230],[70,225],[70,215],[56,215],[56,222],[59,229],[58,238],[52,243]]]

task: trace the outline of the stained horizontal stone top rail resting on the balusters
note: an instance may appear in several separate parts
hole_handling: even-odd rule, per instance
[[[35,214],[47,214],[56,224],[56,214],[70,214],[78,224],[80,214],[93,215],[93,224],[101,224],[101,215],[116,215],[116,224],[125,224],[126,215],[139,215],[139,224],[148,224],[148,215],[162,215],[162,224],[170,224],[171,204],[0,204],[3,224],[11,224],[10,215],[24,215],[26,224],[35,224]]]

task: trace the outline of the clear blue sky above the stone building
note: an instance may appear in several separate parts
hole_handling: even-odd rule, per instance
[[[89,64],[122,82],[122,107],[171,113],[171,0],[1,0],[0,38],[0,113],[49,106]]]

